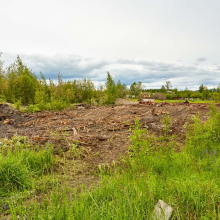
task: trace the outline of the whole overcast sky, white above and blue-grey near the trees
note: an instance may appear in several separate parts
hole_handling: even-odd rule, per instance
[[[219,0],[0,0],[0,52],[47,78],[220,83]]]

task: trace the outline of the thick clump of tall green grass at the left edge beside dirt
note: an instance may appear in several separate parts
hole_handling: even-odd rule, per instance
[[[33,150],[22,137],[14,137],[1,145],[0,196],[32,187],[32,180],[52,168],[52,149]]]

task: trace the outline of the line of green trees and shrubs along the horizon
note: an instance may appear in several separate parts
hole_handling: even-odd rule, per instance
[[[1,58],[1,53],[0,53]],[[141,92],[150,92],[152,97],[158,99],[173,99],[174,97],[214,98],[220,99],[220,86],[209,90],[201,85],[198,91],[190,91],[187,88],[178,91],[172,89],[172,84],[167,81],[161,89],[145,89],[142,82],[134,82],[130,88],[116,83],[109,72],[105,84],[97,88],[90,79],[63,81],[58,74],[57,83],[46,80],[43,73],[37,76],[28,68],[19,56],[9,67],[3,68],[0,59],[0,101],[7,101],[20,105],[32,105],[40,110],[63,109],[71,103],[86,102],[92,105],[113,104],[117,98],[125,98],[127,95],[138,98]]]

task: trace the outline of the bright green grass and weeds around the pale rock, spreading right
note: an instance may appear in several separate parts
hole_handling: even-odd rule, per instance
[[[16,205],[10,204],[11,216],[13,219],[17,215],[27,219],[151,219],[155,204],[162,199],[173,207],[172,219],[219,219],[219,119],[220,109],[214,107],[210,108],[206,123],[196,116],[187,125],[181,152],[179,148],[183,146],[169,134],[172,122],[168,116],[161,121],[164,135],[160,137],[140,129],[136,121],[130,152],[116,163],[99,167],[98,187],[79,189],[57,181],[56,187],[41,201],[34,199],[28,205],[20,200]],[[25,169],[21,169],[24,174]]]

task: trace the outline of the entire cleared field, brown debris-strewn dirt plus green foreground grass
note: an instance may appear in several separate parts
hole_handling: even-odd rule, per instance
[[[1,104],[1,219],[146,219],[158,199],[173,219],[218,218],[219,133],[190,139],[210,123],[216,135],[211,118],[203,103],[119,100],[37,113]]]

